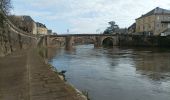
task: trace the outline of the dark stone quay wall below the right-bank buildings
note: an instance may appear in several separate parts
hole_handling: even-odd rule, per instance
[[[132,47],[170,47],[170,36],[121,35],[120,46]]]

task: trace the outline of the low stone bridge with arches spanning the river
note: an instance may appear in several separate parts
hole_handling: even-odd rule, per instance
[[[72,48],[77,44],[94,44],[94,47],[116,46],[118,45],[118,35],[116,34],[64,34],[45,36],[47,47]]]

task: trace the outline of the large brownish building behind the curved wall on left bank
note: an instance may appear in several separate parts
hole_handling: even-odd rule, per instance
[[[37,34],[37,27],[36,22],[30,16],[15,16],[11,15],[8,16],[10,21],[19,29],[30,33],[30,34]]]

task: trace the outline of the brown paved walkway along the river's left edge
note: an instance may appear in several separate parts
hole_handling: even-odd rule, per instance
[[[0,58],[0,100],[85,100],[47,66],[36,50]]]

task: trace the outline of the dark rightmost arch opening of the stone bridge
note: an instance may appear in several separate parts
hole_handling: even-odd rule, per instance
[[[105,37],[102,41],[103,47],[113,47],[114,46],[114,39],[112,37]]]

